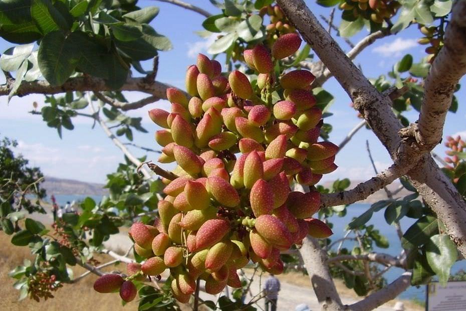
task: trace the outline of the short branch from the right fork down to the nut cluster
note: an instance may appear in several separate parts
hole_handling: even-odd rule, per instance
[[[355,188],[347,191],[321,194],[321,206],[337,206],[342,204],[351,204],[366,199],[374,192],[391,184],[394,180],[406,174],[415,164],[406,164],[403,166],[393,164],[387,170],[377,174],[364,183],[360,183]]]

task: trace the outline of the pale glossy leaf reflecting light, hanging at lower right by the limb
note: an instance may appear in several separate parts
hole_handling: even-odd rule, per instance
[[[456,246],[446,234],[430,237],[425,245],[427,262],[438,275],[440,285],[445,286],[450,276],[450,268],[458,258]]]

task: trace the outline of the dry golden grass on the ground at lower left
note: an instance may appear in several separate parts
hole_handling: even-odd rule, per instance
[[[69,310],[69,311],[117,311],[136,310],[137,302],[128,303],[125,307],[121,305],[118,293],[100,294],[94,291],[92,285],[97,276],[91,274],[77,284],[65,284],[56,291],[55,298],[42,300],[40,303],[26,298],[17,301],[19,291],[13,288],[14,279],[8,276],[8,272],[23,262],[23,259],[33,259],[27,247],[18,247],[10,243],[11,237],[0,231],[0,297],[2,297],[1,309],[9,310]],[[110,257],[99,255],[97,259],[101,262],[110,261]],[[107,271],[125,270],[123,265],[107,267]],[[104,269],[105,270],[105,269]],[[73,267],[74,275],[80,275],[86,270],[80,266]]]

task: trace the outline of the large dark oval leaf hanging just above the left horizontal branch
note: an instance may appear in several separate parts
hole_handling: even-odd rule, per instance
[[[82,47],[77,46],[71,38],[65,38],[60,31],[54,31],[42,39],[37,56],[39,68],[52,85],[63,84],[79,61],[78,51]]]

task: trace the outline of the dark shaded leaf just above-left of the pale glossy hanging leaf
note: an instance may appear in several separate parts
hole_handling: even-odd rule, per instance
[[[412,249],[429,241],[438,232],[438,221],[434,216],[424,216],[406,230],[401,238],[401,246]]]

